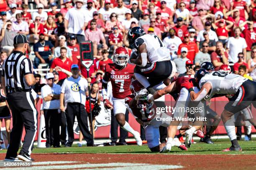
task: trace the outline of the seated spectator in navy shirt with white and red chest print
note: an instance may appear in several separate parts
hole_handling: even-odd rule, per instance
[[[39,41],[36,42],[33,49],[35,52],[34,67],[37,68],[40,63],[47,63],[51,66],[54,54],[54,45],[50,41],[44,40],[44,33],[39,34]],[[50,52],[51,50],[51,52]]]

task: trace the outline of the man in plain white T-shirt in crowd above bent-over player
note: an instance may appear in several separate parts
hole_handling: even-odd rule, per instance
[[[239,52],[243,52],[244,60],[246,61],[246,40],[240,37],[241,28],[234,28],[235,37],[229,37],[227,42],[228,60],[229,62],[237,62]]]

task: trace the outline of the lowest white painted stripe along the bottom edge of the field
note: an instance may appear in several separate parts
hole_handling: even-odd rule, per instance
[[[52,162],[54,163],[54,162]],[[100,168],[100,167],[110,167],[110,168]],[[100,164],[78,164],[78,165],[53,165],[53,166],[34,166],[32,167],[22,167],[23,170],[50,170],[50,169],[75,169],[75,168],[95,168],[96,170],[131,170],[131,168],[136,170],[164,170],[164,169],[177,169],[184,168],[182,165],[153,165],[144,163],[100,163]],[[2,168],[2,170],[17,170],[17,168]]]

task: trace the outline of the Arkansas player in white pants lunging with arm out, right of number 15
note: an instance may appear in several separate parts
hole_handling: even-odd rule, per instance
[[[189,97],[189,91],[186,88],[181,87],[181,84],[183,82],[189,81],[189,80],[193,80],[193,78],[190,76],[183,76],[183,77],[178,77],[178,78],[174,79],[170,85],[168,85],[167,87],[165,87],[162,90],[156,91],[154,93],[154,95],[150,97],[150,99],[148,101],[149,102],[154,101],[168,93],[173,95],[174,97],[175,97],[175,94],[179,94],[179,97],[176,99],[177,102],[176,102],[175,107],[177,107],[177,108],[188,108],[188,107],[204,108],[202,102],[192,103],[190,100],[190,97]],[[195,91],[199,91],[199,89],[197,87],[192,87],[192,89]],[[167,143],[166,143],[166,146],[164,147],[163,152],[169,152],[171,150],[171,148],[172,148],[171,143],[174,140],[175,134],[177,132],[177,128],[178,128],[179,124],[181,123],[180,118],[184,117],[185,112],[183,112],[183,111],[179,112],[177,110],[174,110],[173,115],[174,115],[174,118],[176,118],[177,120],[173,120],[168,128]],[[204,115],[205,115],[204,109],[202,109],[202,112],[195,112],[195,117],[197,117],[198,115],[200,115],[201,117],[204,117]],[[187,147],[190,147],[192,135],[194,133],[196,133],[197,136],[199,136],[200,138],[204,137],[204,134],[202,133],[202,131],[200,131],[200,128],[202,127],[202,125],[203,125],[203,121],[194,121],[193,126],[189,130],[186,131],[185,145]]]

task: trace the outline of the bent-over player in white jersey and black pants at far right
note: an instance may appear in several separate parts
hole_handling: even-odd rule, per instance
[[[241,75],[226,74],[218,71],[209,73],[205,69],[200,69],[196,72],[195,82],[201,89],[199,92],[195,92],[192,89],[193,84],[189,81],[182,84],[183,87],[189,89],[190,97],[193,101],[210,100],[216,95],[233,95],[221,114],[225,130],[232,143],[230,148],[223,151],[242,150],[236,139],[236,129],[231,116],[245,109],[251,103],[256,107],[256,82],[248,80]],[[254,126],[256,125],[255,120],[252,120],[251,123]]]

